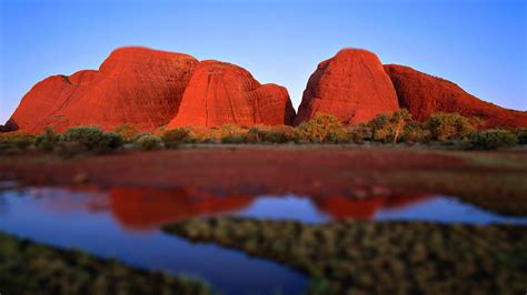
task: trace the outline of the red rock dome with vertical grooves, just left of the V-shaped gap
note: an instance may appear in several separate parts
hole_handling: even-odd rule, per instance
[[[292,124],[295,109],[287,90],[261,85],[245,69],[219,61],[201,61],[190,79],[176,118],[168,129],[236,123]]]

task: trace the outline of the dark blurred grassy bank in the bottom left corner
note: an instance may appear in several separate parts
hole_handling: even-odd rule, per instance
[[[0,233],[1,294],[209,294],[187,278],[131,268]]]

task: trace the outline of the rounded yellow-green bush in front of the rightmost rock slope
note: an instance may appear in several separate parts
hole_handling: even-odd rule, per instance
[[[446,142],[469,138],[475,129],[469,120],[458,113],[436,113],[425,124],[431,140]]]

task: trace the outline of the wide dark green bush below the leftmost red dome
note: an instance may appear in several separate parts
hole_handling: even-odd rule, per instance
[[[77,142],[83,149],[107,152],[120,148],[123,139],[116,132],[105,132],[98,128],[77,126],[68,129],[60,135],[61,142]]]

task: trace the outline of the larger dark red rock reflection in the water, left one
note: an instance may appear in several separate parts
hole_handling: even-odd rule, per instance
[[[130,228],[155,228],[168,222],[203,215],[223,214],[248,206],[253,196],[219,197],[192,190],[149,187],[111,187],[111,212]]]

